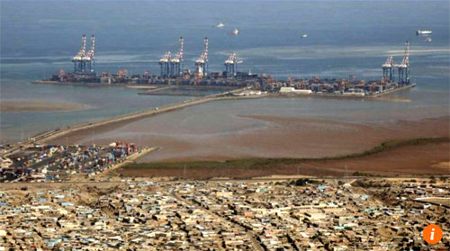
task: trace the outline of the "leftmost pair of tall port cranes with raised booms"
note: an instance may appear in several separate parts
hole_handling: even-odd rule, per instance
[[[85,35],[81,37],[81,49],[76,53],[76,56],[72,58],[74,62],[75,74],[88,74],[94,75],[94,49],[95,49],[95,37],[91,36],[91,49],[85,50]]]

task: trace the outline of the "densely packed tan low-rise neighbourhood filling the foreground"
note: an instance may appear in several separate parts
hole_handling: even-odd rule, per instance
[[[0,250],[448,250],[421,231],[448,233],[449,197],[429,179],[23,185],[0,189]]]

